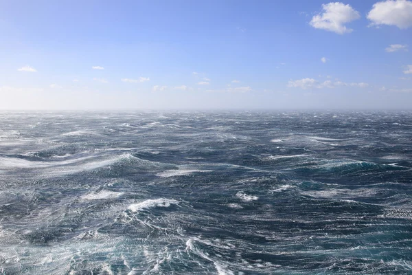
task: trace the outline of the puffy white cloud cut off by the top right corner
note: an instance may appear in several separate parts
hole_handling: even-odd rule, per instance
[[[400,29],[412,26],[412,1],[387,0],[375,3],[367,14],[370,25],[396,25]]]

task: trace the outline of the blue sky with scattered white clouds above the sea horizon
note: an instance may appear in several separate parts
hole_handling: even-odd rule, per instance
[[[0,109],[411,109],[412,1],[2,0]]]

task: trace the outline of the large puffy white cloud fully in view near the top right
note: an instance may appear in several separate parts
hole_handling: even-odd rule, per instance
[[[323,4],[322,8],[323,13],[315,15],[310,21],[310,25],[313,28],[336,32],[336,34],[345,34],[353,31],[350,28],[346,28],[345,23],[361,18],[359,12],[344,3]]]

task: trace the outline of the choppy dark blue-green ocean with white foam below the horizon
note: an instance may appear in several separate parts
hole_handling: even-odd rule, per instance
[[[411,274],[412,113],[0,113],[0,274]]]

